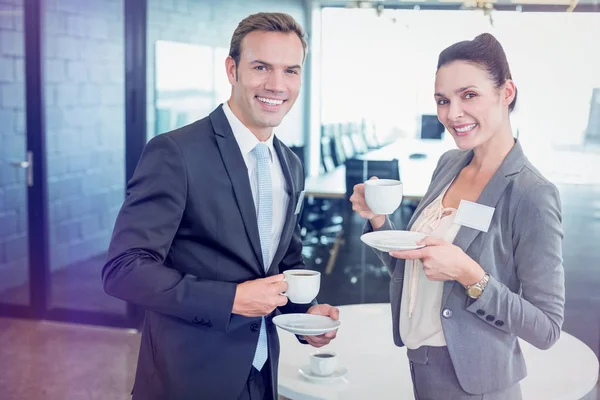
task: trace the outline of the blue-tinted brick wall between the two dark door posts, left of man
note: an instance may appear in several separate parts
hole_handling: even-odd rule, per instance
[[[51,268],[106,251],[125,187],[123,0],[47,0]]]

